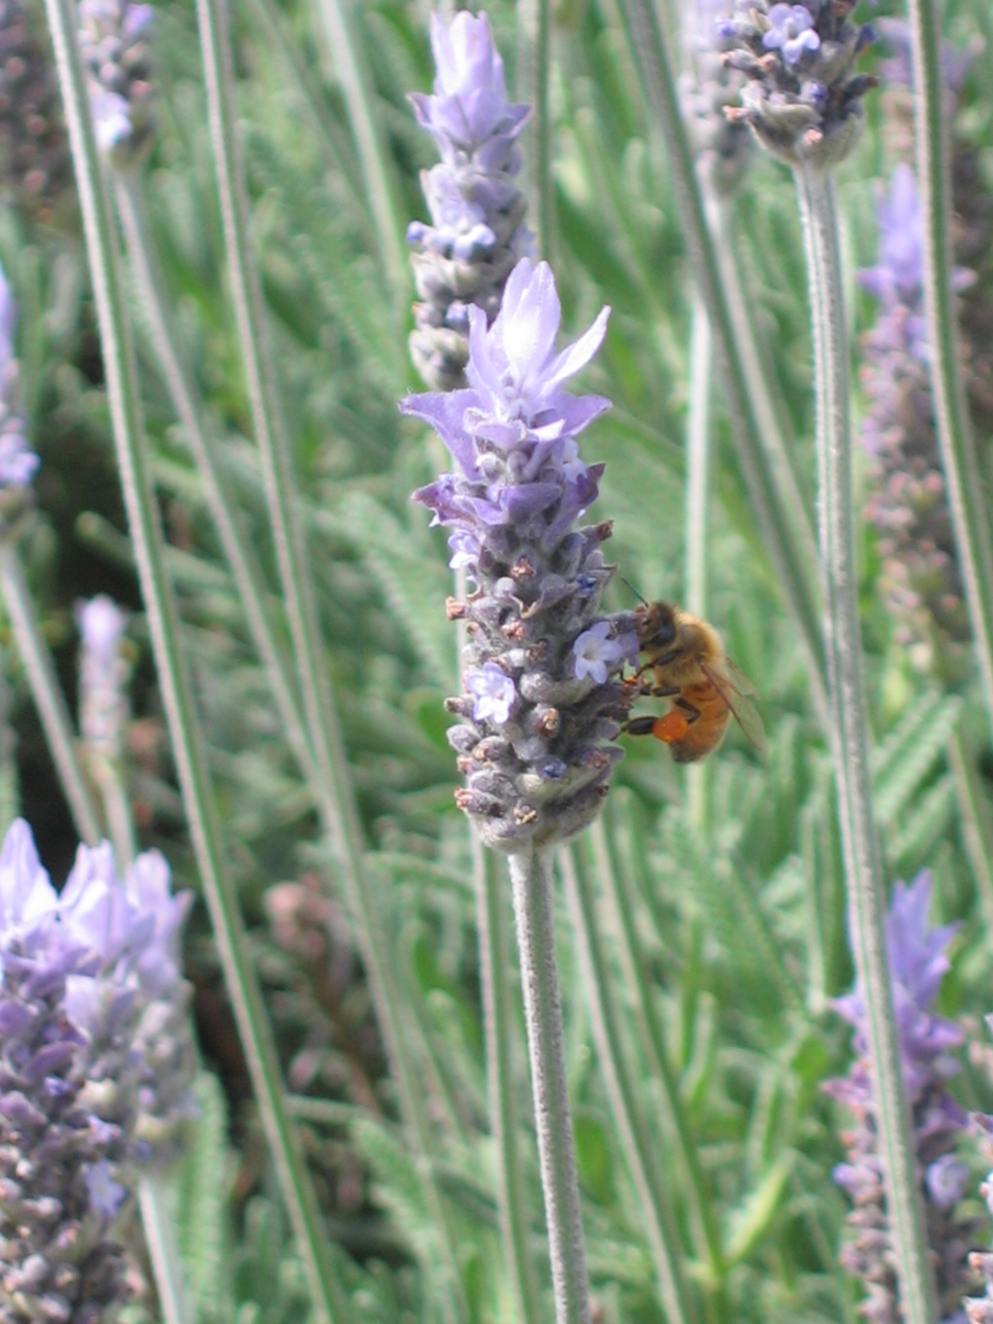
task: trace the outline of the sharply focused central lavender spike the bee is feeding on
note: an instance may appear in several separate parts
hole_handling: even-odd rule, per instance
[[[491,327],[470,308],[467,391],[408,396],[401,410],[437,430],[454,459],[414,500],[453,530],[449,545],[475,584],[449,616],[465,618],[462,696],[449,731],[467,785],[457,801],[483,841],[504,851],[580,831],[621,757],[620,681],[637,653],[632,618],[598,614],[613,569],[606,524],[577,526],[602,465],[579,458],[577,434],[608,406],[565,381],[589,363],[609,310],[555,352],[561,310],[545,262],[514,269]]]

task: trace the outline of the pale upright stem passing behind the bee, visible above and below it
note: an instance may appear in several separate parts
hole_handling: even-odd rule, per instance
[[[686,609],[707,614],[710,552],[710,392],[712,338],[699,294],[692,303],[690,336],[690,418],[686,430]],[[692,826],[703,833],[710,818],[710,763],[686,769],[686,801]]]

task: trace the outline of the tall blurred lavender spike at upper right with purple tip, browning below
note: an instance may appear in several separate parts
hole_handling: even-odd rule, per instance
[[[896,168],[878,214],[879,262],[859,273],[880,302],[862,339],[866,516],[879,534],[879,591],[898,622],[896,642],[918,670],[959,679],[968,666],[969,621],[935,429],[920,200],[910,166]],[[968,279],[957,275],[960,285]]]

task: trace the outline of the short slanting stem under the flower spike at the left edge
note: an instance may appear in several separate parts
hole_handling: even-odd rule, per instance
[[[9,540],[0,543],[0,589],[75,830],[87,846],[95,846],[103,837],[103,830],[77,755],[73,719],[69,716],[56,666],[38,625],[17,544]]]

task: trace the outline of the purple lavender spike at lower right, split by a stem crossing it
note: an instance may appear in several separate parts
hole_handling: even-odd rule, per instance
[[[968,1117],[945,1088],[945,1082],[959,1070],[948,1050],[959,1047],[964,1034],[952,1021],[931,1010],[949,969],[945,949],[956,927],[928,928],[931,894],[932,878],[927,870],[910,887],[896,883],[886,919],[886,945],[927,1238],[936,1264],[941,1319],[951,1320],[959,1312],[968,1286],[968,1249],[978,1225],[956,1217],[965,1194],[968,1169],[956,1158],[955,1148]],[[834,1180],[854,1205],[847,1218],[853,1235],[842,1247],[841,1262],[866,1286],[867,1296],[859,1307],[861,1313],[873,1324],[899,1324],[903,1316],[884,1204],[866,1010],[861,993],[857,990],[839,998],[834,1009],[855,1027],[853,1042],[858,1054],[847,1076],[829,1080],[825,1086],[855,1115],[855,1128],[845,1136],[847,1162],[839,1164],[834,1172]]]

